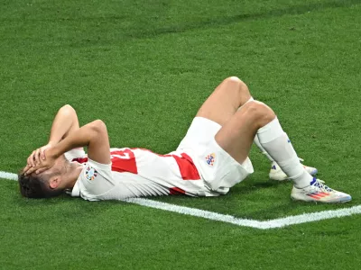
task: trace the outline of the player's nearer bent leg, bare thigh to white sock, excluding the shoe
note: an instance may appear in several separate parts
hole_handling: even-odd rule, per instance
[[[231,157],[242,164],[248,157],[255,135],[297,186],[305,187],[310,184],[312,176],[301,166],[291,141],[283,132],[273,110],[264,103],[246,103],[218,131],[216,141]]]

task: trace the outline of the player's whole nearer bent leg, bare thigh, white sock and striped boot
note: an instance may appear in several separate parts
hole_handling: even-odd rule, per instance
[[[330,189],[305,170],[290,139],[271,108],[264,103],[246,103],[216,134],[218,145],[243,163],[252,142],[258,137],[262,147],[292,179],[292,199],[314,202],[347,202],[351,196]]]

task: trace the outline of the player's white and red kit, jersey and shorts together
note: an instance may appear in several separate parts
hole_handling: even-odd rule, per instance
[[[82,148],[65,154],[84,165],[71,192],[89,201],[153,195],[218,196],[254,169],[239,164],[215,140],[217,122],[196,117],[176,151],[158,155],[142,148],[111,148],[111,164],[88,159]]]

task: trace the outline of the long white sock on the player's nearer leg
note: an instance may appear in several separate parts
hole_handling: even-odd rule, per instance
[[[260,144],[265,151],[281,166],[296,187],[310,185],[312,176],[307,173],[293,149],[290,139],[282,130],[277,117],[257,131]]]

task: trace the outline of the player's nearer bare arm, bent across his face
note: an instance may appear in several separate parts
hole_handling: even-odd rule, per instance
[[[87,147],[88,157],[101,164],[110,164],[110,147],[106,130],[106,124],[103,121],[96,120],[70,133],[65,139],[62,139],[57,145],[45,151],[45,160],[37,166],[27,166],[24,171],[26,175],[41,173],[51,166],[54,166],[55,160],[72,148]]]

